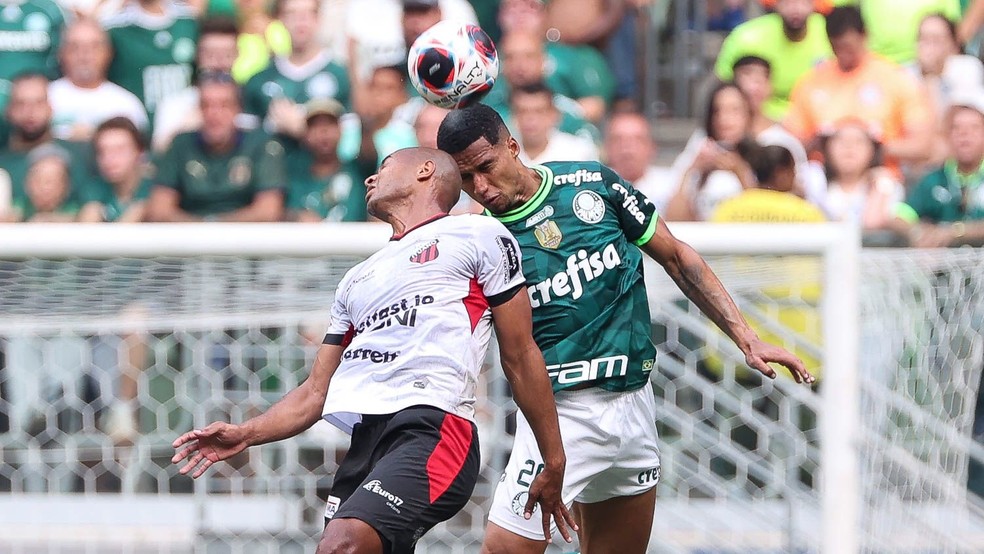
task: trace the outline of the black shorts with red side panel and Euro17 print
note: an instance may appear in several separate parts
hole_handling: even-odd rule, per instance
[[[467,419],[430,406],[363,416],[335,473],[325,523],[355,518],[379,533],[384,552],[413,552],[465,506],[479,465],[478,431]]]

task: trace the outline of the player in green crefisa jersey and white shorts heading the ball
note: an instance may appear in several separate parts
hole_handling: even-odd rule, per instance
[[[479,104],[452,111],[438,147],[461,171],[463,190],[516,237],[564,429],[564,500],[580,518],[584,553],[645,552],[659,480],[655,400],[649,378],[656,348],[642,253],[768,377],[776,362],[797,382],[814,378],[786,350],[762,341],[687,244],[670,234],[653,205],[598,162],[526,167],[499,115]],[[641,252],[640,252],[641,250]],[[542,467],[518,418],[512,455],[489,513],[483,551],[542,553],[546,542],[522,517],[530,479]],[[585,445],[590,445],[586,448]]]

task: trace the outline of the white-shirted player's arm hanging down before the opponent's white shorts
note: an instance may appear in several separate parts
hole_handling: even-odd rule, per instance
[[[492,308],[492,322],[499,340],[502,371],[509,379],[516,405],[530,423],[536,444],[543,456],[543,471],[530,485],[526,501],[526,519],[540,504],[543,515],[543,536],[550,542],[550,518],[564,540],[571,542],[568,526],[577,531],[577,524],[564,504],[564,468],[567,457],[560,437],[557,405],[543,363],[543,354],[533,341],[533,321],[530,299],[520,290],[511,299]]]

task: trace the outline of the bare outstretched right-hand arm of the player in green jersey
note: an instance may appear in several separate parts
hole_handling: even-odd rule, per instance
[[[656,233],[642,245],[642,250],[659,262],[683,294],[738,345],[749,367],[775,378],[775,370],[769,367],[770,362],[775,362],[789,369],[797,383],[816,380],[793,353],[758,337],[704,258],[677,240],[662,220],[656,225]]]

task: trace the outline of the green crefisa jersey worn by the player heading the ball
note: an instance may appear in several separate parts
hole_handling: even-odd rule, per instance
[[[543,179],[536,194],[495,217],[522,247],[533,338],[554,391],[638,389],[656,347],[637,245],[656,232],[656,208],[598,162],[533,169]]]

